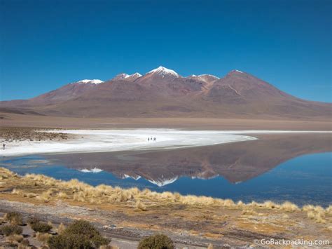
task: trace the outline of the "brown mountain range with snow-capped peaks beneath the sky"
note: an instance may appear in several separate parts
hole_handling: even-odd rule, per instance
[[[0,102],[3,112],[75,117],[331,119],[331,107],[284,93],[239,70],[222,78],[184,77],[165,67],[108,81],[85,79],[29,100]]]

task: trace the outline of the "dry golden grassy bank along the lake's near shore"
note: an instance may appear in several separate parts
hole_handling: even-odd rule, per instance
[[[162,232],[191,245],[251,245],[256,239],[326,241],[332,206],[293,203],[234,203],[205,196],[156,193],[148,189],[92,187],[44,175],[18,176],[0,168],[0,210],[50,217],[52,222],[85,219],[110,236],[141,238]]]

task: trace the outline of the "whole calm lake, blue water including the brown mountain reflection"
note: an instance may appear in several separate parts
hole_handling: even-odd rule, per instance
[[[332,203],[331,135],[254,136],[258,140],[186,149],[3,157],[1,166],[20,175],[234,201]]]

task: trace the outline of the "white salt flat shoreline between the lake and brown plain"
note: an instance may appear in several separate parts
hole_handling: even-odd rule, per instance
[[[20,128],[16,128],[20,130]],[[22,128],[23,129],[23,128]],[[10,129],[8,129],[10,130]],[[332,133],[324,130],[183,130],[139,128],[113,130],[45,130],[29,128],[25,140],[0,136],[1,156],[183,149],[256,140],[252,135]],[[38,140],[36,140],[36,138]],[[150,140],[153,138],[153,141]],[[156,140],[154,140],[156,139]]]

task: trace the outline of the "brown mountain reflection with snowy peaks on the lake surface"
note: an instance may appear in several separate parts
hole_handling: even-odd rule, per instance
[[[255,136],[255,135],[254,135]],[[256,135],[259,140],[153,152],[57,154],[46,156],[69,168],[105,170],[119,178],[144,179],[158,186],[180,177],[244,182],[304,154],[331,152],[330,134]]]

